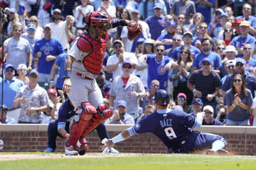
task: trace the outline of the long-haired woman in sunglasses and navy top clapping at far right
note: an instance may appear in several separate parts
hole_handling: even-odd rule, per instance
[[[232,78],[232,88],[224,98],[228,111],[226,125],[248,125],[252,103],[252,93],[246,89],[243,76],[236,74]]]

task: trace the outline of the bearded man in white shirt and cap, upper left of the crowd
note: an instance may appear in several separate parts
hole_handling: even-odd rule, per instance
[[[61,10],[56,8],[53,10],[52,22],[47,24],[52,29],[52,38],[56,38],[61,41],[64,49],[67,50],[68,40],[66,36],[66,21],[63,21]]]

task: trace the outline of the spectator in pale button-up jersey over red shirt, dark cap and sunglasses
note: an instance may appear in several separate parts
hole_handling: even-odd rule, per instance
[[[138,102],[140,98],[146,96],[144,85],[140,78],[131,74],[132,63],[129,60],[122,62],[122,76],[116,76],[109,90],[109,105],[114,106],[116,101],[124,100],[127,103],[127,113],[134,118],[139,117]]]

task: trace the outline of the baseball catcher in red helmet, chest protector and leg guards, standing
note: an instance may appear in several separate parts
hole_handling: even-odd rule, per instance
[[[127,26],[131,41],[142,33],[140,24],[129,20],[110,22],[108,15],[99,11],[87,13],[85,22],[86,31],[74,40],[65,62],[63,92],[67,93],[79,116],[70,125],[70,136],[68,134],[69,138],[65,141],[66,155],[83,155],[88,147],[84,136],[113,115],[112,110],[103,103],[95,81],[102,68],[109,29]]]

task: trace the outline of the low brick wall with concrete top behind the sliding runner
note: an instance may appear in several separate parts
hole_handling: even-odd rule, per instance
[[[129,125],[106,125],[110,138],[122,132]],[[227,139],[227,150],[239,155],[256,155],[256,127],[203,126],[195,129],[202,132],[220,134]],[[42,152],[47,146],[47,125],[1,125],[0,152]],[[96,131],[88,134],[89,152],[100,152],[101,141]],[[65,152],[65,139],[57,138],[56,152]],[[0,146],[1,148],[1,146]],[[119,152],[166,153],[163,143],[153,134],[132,136],[115,148]]]

